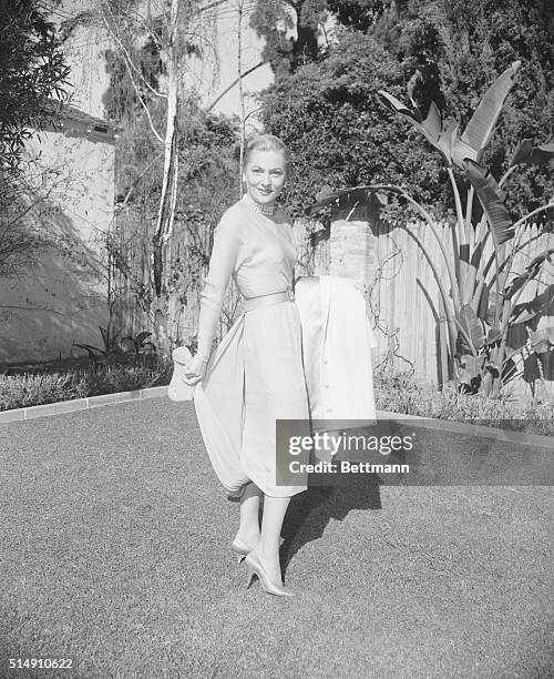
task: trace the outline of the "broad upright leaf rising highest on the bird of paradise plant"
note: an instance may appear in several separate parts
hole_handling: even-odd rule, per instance
[[[466,143],[478,153],[478,156],[474,159],[476,161],[481,158],[484,148],[491,139],[494,125],[504,105],[504,100],[514,84],[515,74],[520,67],[521,61],[514,61],[510,68],[496,78],[485,92],[460,138],[462,142]]]

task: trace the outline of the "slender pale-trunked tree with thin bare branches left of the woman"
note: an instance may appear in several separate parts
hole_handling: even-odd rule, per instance
[[[178,183],[179,138],[186,125],[182,115],[187,57],[201,54],[208,41],[202,27],[198,0],[171,0],[157,13],[141,13],[136,0],[102,0],[101,19],[116,43],[133,99],[141,108],[151,132],[154,162],[163,158],[163,175],[157,202],[156,225],[152,236],[153,284],[157,304],[156,341],[168,348],[167,314],[163,308],[164,267],[171,261]],[[138,47],[137,45],[141,45]],[[151,52],[148,60],[135,57]],[[154,68],[153,68],[154,67]],[[157,68],[157,73],[156,73]]]

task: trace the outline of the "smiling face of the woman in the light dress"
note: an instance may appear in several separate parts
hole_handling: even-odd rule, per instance
[[[283,192],[287,179],[281,151],[253,151],[243,172],[249,196],[260,205],[270,205]]]

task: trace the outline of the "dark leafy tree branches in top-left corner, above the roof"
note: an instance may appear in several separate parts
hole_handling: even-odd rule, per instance
[[[38,0],[0,0],[0,168],[18,168],[31,128],[55,119],[51,98],[68,100],[61,44]]]

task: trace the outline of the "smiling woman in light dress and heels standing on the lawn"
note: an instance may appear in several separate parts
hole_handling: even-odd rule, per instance
[[[306,486],[277,485],[275,422],[307,420],[309,417],[300,320],[291,294],[295,240],[289,219],[275,204],[285,188],[289,164],[289,152],[276,136],[257,136],[247,145],[243,166],[247,192],[227,210],[216,229],[202,294],[198,351],[186,372],[191,383],[203,381],[206,393],[209,393],[211,383],[217,383],[217,372],[225,373],[223,361],[217,364],[212,361],[208,366],[208,359],[225,291],[233,275],[245,297],[245,314],[228,333],[218,354],[232,357],[233,368],[227,375],[234,377],[227,382],[238,385],[244,379],[243,397],[238,397],[242,417],[236,414],[234,418],[226,417],[225,414],[237,398],[223,398],[218,407],[213,406],[214,401],[209,395],[204,399],[204,391],[198,387],[195,405],[214,468],[227,490],[240,496],[240,524],[232,549],[239,561],[244,558],[246,563],[247,586],[257,576],[263,588],[277,596],[294,596],[283,586],[280,531],[290,497]],[[224,383],[225,379],[219,381],[219,388],[212,387],[214,398],[222,397]],[[229,422],[232,419],[234,422]],[[239,440],[237,449],[223,450],[218,455],[217,443],[220,444],[237,419],[240,419],[239,436],[235,437]],[[211,426],[212,420],[214,426]],[[211,440],[214,432],[220,433],[218,442]]]

